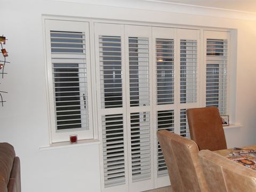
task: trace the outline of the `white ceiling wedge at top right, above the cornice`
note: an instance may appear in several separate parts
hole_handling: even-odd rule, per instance
[[[256,13],[256,0],[145,0]]]

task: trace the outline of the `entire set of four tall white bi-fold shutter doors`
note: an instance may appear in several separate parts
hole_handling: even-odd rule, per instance
[[[198,39],[198,30],[95,23],[103,191],[170,185],[156,132],[189,137]]]

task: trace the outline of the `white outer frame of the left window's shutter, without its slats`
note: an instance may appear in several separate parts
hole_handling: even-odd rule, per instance
[[[85,53],[87,71],[87,97],[89,108],[89,130],[69,129],[69,130],[56,130],[56,117],[54,112],[54,87],[53,87],[53,71],[52,71],[52,54],[51,54],[51,34],[50,31],[69,31],[79,32],[85,34]],[[89,33],[89,22],[78,22],[78,21],[62,21],[62,20],[45,20],[45,40],[46,40],[46,62],[47,62],[47,86],[49,94],[49,113],[50,113],[50,125],[51,132],[50,142],[61,142],[69,141],[70,134],[77,134],[78,139],[92,139],[93,138],[93,118],[92,118],[92,94],[91,94],[91,61],[90,61],[90,33]],[[57,54],[55,54],[57,55]],[[63,53],[61,54],[64,55]],[[78,62],[79,63],[79,62]],[[82,114],[81,114],[82,115]]]

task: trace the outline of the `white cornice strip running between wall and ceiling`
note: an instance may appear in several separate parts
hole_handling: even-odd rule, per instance
[[[253,12],[220,9],[215,7],[205,7],[205,6],[197,6],[197,5],[187,5],[187,4],[180,4],[180,3],[157,1],[157,0],[108,0],[108,1],[105,1],[105,0],[51,0],[51,1],[104,5],[104,6],[112,6],[112,7],[164,11],[164,12],[172,12],[172,13],[195,14],[195,15],[204,15],[204,16],[230,18],[230,19],[256,20],[256,13],[253,13]]]

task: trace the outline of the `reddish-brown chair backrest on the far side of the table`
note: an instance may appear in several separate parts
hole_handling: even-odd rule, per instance
[[[217,107],[187,110],[190,138],[199,148],[208,150],[227,149],[225,133]]]

